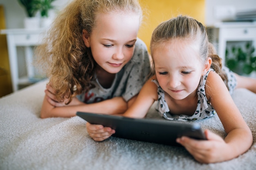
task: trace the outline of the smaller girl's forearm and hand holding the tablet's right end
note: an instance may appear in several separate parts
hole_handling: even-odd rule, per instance
[[[196,140],[185,136],[177,139],[177,142],[201,163],[217,163],[234,159],[252,145],[252,133],[247,127],[234,128],[228,132],[225,140],[209,130],[205,130],[204,134],[207,140]]]

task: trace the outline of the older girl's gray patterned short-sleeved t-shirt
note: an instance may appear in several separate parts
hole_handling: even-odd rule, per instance
[[[149,73],[150,62],[146,44],[137,38],[132,59],[115,75],[112,86],[103,88],[96,79],[95,88],[77,95],[77,98],[90,104],[121,96],[128,102],[139,93]]]

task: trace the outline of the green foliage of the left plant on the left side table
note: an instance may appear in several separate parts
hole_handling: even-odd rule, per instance
[[[34,17],[40,9],[41,0],[18,0],[25,8],[28,17]]]

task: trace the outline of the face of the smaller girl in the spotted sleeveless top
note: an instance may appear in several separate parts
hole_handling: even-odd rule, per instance
[[[206,73],[195,44],[176,39],[162,42],[153,50],[157,81],[173,99],[196,95],[200,78]]]

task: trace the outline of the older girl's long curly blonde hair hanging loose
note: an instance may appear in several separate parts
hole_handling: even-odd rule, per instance
[[[36,65],[49,77],[58,101],[63,102],[67,97],[70,103],[72,97],[94,87],[97,63],[83,42],[82,31],[90,35],[97,14],[113,11],[133,12],[142,18],[137,0],[73,0],[59,13],[43,42],[36,47]]]

